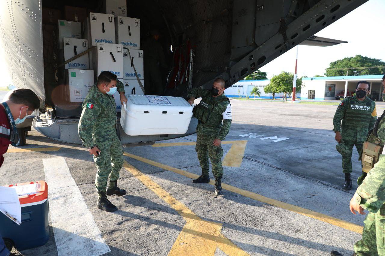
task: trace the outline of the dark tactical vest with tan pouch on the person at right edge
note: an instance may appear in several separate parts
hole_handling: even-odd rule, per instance
[[[375,163],[378,162],[378,156],[382,154],[384,141],[381,141],[380,138],[378,138],[377,131],[378,126],[380,125],[380,122],[384,118],[384,116],[385,111],[379,118],[377,118],[373,129],[369,131],[368,137],[363,143],[360,159],[362,162],[362,171],[365,173],[368,173],[370,170],[372,170]]]

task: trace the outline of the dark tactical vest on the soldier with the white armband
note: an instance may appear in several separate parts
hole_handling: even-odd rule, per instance
[[[216,128],[221,127],[222,120],[218,123],[218,121],[212,120],[211,114],[213,113],[214,106],[222,101],[228,101],[230,103],[229,98],[226,96],[216,101],[215,98],[202,98],[201,102],[194,106],[192,109],[192,116],[199,120],[200,123],[203,123],[205,126],[212,126]]]

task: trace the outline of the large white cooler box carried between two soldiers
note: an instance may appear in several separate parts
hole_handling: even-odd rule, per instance
[[[184,134],[189,128],[192,106],[180,97],[129,95],[121,125],[130,136]]]

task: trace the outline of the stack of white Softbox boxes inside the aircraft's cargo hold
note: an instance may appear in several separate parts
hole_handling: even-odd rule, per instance
[[[126,0],[102,0],[99,13],[67,5],[43,9],[43,23],[57,24],[59,64],[92,48],[64,66],[66,101],[81,103],[102,71],[117,75],[126,95],[144,94],[137,81],[144,85],[140,20],[126,17]],[[114,96],[120,111],[120,96]]]

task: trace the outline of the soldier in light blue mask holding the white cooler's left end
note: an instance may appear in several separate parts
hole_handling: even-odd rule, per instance
[[[97,208],[103,211],[117,210],[107,199],[106,194],[109,196],[126,194],[126,190],[121,190],[117,186],[119,171],[123,166],[123,149],[116,130],[116,104],[112,96],[116,91],[119,91],[122,103],[127,102],[124,85],[117,80],[116,75],[109,71],[100,73],[97,83],[90,88],[84,99],[78,125],[83,146],[94,156],[97,168],[95,178]]]

